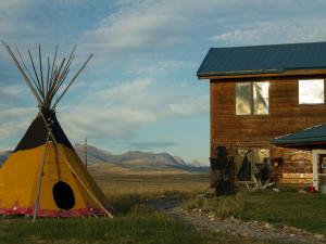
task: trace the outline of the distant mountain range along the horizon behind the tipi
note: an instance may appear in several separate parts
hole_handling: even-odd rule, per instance
[[[85,147],[83,144],[75,144],[75,150],[82,160],[85,159]],[[0,165],[2,165],[10,151],[0,152]],[[87,146],[87,162],[90,166],[106,165],[122,171],[187,171],[187,172],[209,172],[209,167],[195,160],[187,164],[179,156],[172,156],[168,153],[148,153],[140,151],[129,151],[124,154],[114,155],[109,151],[100,150],[96,146]]]

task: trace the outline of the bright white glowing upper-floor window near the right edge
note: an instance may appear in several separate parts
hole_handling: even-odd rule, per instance
[[[299,104],[321,104],[324,101],[324,79],[299,80]]]

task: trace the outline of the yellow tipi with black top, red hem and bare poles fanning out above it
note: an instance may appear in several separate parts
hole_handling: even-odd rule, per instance
[[[0,168],[0,215],[36,217],[112,217],[113,209],[63,132],[55,117],[55,106],[85,68],[92,55],[72,77],[52,105],[54,95],[64,84],[74,51],[57,65],[57,53],[48,57],[47,72],[28,50],[34,75],[28,70],[18,49],[16,59],[11,48],[2,42],[16,64],[24,80],[36,97],[39,113],[25,136]],[[37,72],[37,69],[39,69]]]

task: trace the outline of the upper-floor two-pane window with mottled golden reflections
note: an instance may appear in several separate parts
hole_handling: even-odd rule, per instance
[[[269,113],[269,82],[238,82],[236,85],[237,115]]]

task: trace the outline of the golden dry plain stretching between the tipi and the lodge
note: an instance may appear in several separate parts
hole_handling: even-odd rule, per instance
[[[125,172],[105,168],[91,167],[90,172],[109,196],[125,194],[159,194],[166,191],[198,192],[209,187],[209,174],[187,174],[184,171],[141,171]]]

